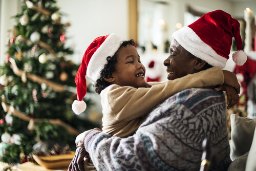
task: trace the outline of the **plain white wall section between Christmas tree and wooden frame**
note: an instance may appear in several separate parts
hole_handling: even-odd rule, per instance
[[[63,22],[67,29],[67,46],[73,47],[72,60],[80,63],[83,53],[98,36],[115,33],[128,38],[129,0],[57,0],[60,12],[66,13]]]

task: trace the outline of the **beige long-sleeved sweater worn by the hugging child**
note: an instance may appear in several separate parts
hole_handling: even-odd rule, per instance
[[[101,93],[102,131],[112,136],[132,135],[144,118],[167,97],[189,88],[224,83],[220,67],[213,67],[166,82],[148,82],[146,88],[120,87],[117,84]]]

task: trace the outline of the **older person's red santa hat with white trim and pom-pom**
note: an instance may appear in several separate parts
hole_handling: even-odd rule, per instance
[[[232,37],[236,40],[238,49],[232,55],[233,61],[242,66],[247,55],[242,51],[240,24],[222,10],[206,13],[193,24],[173,33],[173,38],[188,52],[211,66],[221,68],[225,67],[229,58]]]

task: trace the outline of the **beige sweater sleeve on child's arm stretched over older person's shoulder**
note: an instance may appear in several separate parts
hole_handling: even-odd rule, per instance
[[[182,78],[155,84],[151,88],[120,87],[113,85],[102,94],[102,106],[112,116],[104,116],[108,125],[116,121],[130,121],[146,115],[169,96],[189,88],[217,86],[223,84],[224,75],[220,67],[213,67]],[[108,89],[108,88],[107,88]],[[107,101],[104,101],[107,100]],[[104,126],[104,123],[103,123]]]

